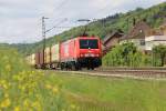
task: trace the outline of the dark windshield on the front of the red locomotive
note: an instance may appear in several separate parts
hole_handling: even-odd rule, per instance
[[[82,39],[80,40],[80,49],[98,49],[98,40]]]

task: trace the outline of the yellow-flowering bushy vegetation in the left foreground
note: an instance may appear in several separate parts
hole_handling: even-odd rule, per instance
[[[0,48],[0,111],[63,111],[70,109],[59,84],[31,70],[11,48]]]

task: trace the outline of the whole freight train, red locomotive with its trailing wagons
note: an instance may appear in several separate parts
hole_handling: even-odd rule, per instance
[[[27,60],[37,69],[93,70],[102,64],[102,42],[97,37],[77,37],[28,56]]]

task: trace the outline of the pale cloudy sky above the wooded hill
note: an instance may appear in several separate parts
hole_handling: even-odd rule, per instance
[[[0,42],[35,42],[41,38],[41,17],[48,17],[46,29],[77,26],[77,19],[100,19],[137,7],[148,8],[166,0],[0,0]],[[46,37],[66,29],[54,29]]]

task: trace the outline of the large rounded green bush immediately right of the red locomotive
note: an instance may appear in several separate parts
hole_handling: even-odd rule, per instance
[[[106,67],[151,67],[152,57],[138,51],[134,43],[116,46],[103,58]]]

